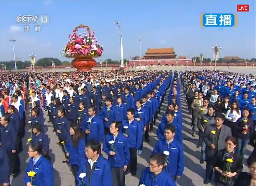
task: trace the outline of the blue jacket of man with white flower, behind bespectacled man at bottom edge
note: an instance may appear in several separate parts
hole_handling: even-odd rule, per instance
[[[156,142],[155,148],[152,154],[155,153],[163,153],[164,151],[168,151],[170,155],[168,156],[168,165],[165,167],[166,172],[169,176],[182,176],[184,171],[184,153],[182,144],[173,140],[170,144],[167,144],[167,141],[159,140]]]

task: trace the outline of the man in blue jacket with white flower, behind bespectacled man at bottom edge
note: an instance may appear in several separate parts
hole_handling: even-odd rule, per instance
[[[166,172],[174,181],[180,178],[184,171],[184,153],[182,144],[177,141],[175,136],[176,128],[172,124],[165,126],[165,139],[156,142],[152,154],[164,153],[168,158],[168,163],[165,167]]]

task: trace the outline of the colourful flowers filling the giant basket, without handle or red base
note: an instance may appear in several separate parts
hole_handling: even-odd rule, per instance
[[[99,57],[103,53],[102,45],[98,44],[95,37],[95,32],[89,36],[85,32],[77,34],[76,29],[73,30],[73,34],[69,34],[68,44],[65,49],[62,49],[62,56],[65,57]]]

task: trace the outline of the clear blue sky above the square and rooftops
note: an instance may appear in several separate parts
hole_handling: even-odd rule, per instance
[[[237,4],[249,4],[249,12],[236,12]],[[252,0],[0,0],[0,61],[13,60],[9,39],[16,39],[15,54],[22,61],[59,58],[74,27],[85,24],[95,30],[104,47],[102,59],[120,59],[119,30],[123,33],[124,57],[130,59],[147,48],[174,47],[177,55],[200,52],[212,58],[211,47],[222,47],[220,57],[256,57],[256,1]],[[237,27],[200,26],[201,13],[237,13]],[[36,33],[25,33],[16,25],[16,16],[48,14],[48,25]],[[84,30],[81,30],[81,33]],[[78,33],[80,33],[78,31]]]

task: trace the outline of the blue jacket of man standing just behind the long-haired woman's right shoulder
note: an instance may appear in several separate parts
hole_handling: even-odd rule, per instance
[[[88,121],[89,121],[89,118],[90,117],[88,117]],[[86,134],[86,141],[90,141],[91,139],[95,139],[98,142],[103,142],[104,126],[103,126],[102,119],[100,117],[95,115],[92,118],[90,123],[86,121],[84,126],[83,126],[83,131],[85,131],[87,129],[90,131],[90,133]]]

